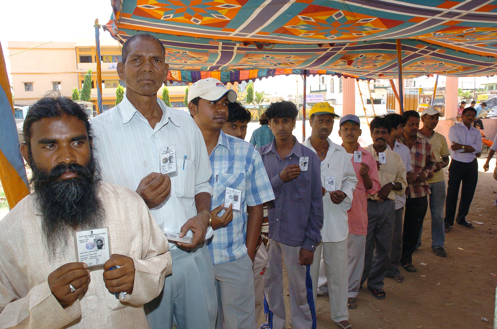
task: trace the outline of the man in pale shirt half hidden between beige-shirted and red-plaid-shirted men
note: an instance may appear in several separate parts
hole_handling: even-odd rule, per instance
[[[404,144],[397,141],[404,135],[404,119],[397,113],[385,115],[385,119],[390,122],[392,131],[388,137],[388,148],[401,156],[402,162],[406,167],[407,182],[413,182],[416,179],[416,173],[413,172],[411,165],[411,150]],[[444,192],[445,194],[445,192]],[[388,265],[387,275],[397,282],[404,281],[404,275],[399,271],[402,256],[402,214],[406,206],[406,194],[395,195],[395,222],[394,235],[392,236],[392,248],[390,250],[390,264]]]

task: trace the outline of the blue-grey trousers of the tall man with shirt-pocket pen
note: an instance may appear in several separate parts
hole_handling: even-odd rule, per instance
[[[189,251],[171,250],[172,274],[164,280],[164,289],[145,304],[151,329],[206,329],[216,325],[217,299],[209,250],[201,244]]]

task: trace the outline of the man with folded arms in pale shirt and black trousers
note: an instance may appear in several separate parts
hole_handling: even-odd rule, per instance
[[[476,110],[465,108],[462,112],[462,122],[449,128],[450,165],[447,198],[445,199],[445,232],[454,225],[456,215],[457,195],[462,182],[461,201],[457,213],[457,224],[472,228],[473,224],[466,220],[476,184],[478,183],[477,156],[482,152],[482,134],[473,127]],[[478,154],[478,155],[477,155]]]

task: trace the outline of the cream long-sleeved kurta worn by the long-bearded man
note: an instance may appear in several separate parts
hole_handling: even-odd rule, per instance
[[[103,282],[103,266],[90,268],[84,296],[63,309],[48,285],[48,275],[76,261],[74,239],[48,257],[35,196],[22,199],[0,221],[0,328],[148,328],[143,304],[159,295],[172,271],[168,242],[145,202],[127,188],[102,183],[112,253],[132,257],[133,293],[118,300]]]

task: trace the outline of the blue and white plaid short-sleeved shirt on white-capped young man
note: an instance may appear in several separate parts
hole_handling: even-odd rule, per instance
[[[262,159],[248,142],[220,132],[218,144],[210,155],[213,188],[211,210],[224,204],[226,187],[242,191],[240,211],[233,211],[233,221],[214,232],[207,247],[214,265],[239,259],[247,254],[247,206],[257,206],[274,199],[273,189]],[[219,216],[224,214],[223,209]]]

